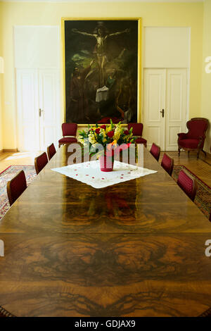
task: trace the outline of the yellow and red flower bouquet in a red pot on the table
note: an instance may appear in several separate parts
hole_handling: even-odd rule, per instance
[[[128,149],[129,145],[135,142],[132,128],[125,130],[121,122],[117,125],[93,125],[88,130],[79,131],[79,142],[89,149],[89,155],[99,159],[102,171],[112,171],[114,155]]]

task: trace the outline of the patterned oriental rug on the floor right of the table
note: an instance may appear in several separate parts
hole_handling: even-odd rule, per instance
[[[200,180],[196,175],[191,173],[184,165],[174,165],[174,170],[172,173],[172,178],[177,182],[179,176],[179,171],[185,169],[197,182],[198,189],[196,192],[196,198],[194,203],[200,211],[202,211],[207,218],[210,217],[211,211],[211,187],[206,185],[202,180]]]

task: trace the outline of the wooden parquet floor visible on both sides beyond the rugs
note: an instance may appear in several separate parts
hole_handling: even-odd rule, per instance
[[[160,154],[160,163],[163,153]],[[200,158],[197,160],[196,153],[190,153],[189,157],[185,151],[181,151],[180,156],[178,156],[177,151],[168,151],[167,153],[174,158],[175,165],[185,165],[186,168],[211,187],[211,154],[207,154],[207,157],[205,157],[203,153],[200,153]],[[33,153],[2,152],[0,153],[0,173],[9,165],[34,165],[34,158],[39,154],[41,154],[41,151]]]

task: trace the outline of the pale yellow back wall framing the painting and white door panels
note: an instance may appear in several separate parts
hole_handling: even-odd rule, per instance
[[[4,148],[16,148],[15,70],[13,25],[60,25],[61,17],[141,17],[143,26],[191,27],[191,82],[189,117],[200,115],[203,56],[203,3],[1,3],[4,49]]]

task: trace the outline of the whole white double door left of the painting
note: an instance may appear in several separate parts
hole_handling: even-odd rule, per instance
[[[17,69],[18,150],[46,151],[60,138],[60,70]]]

